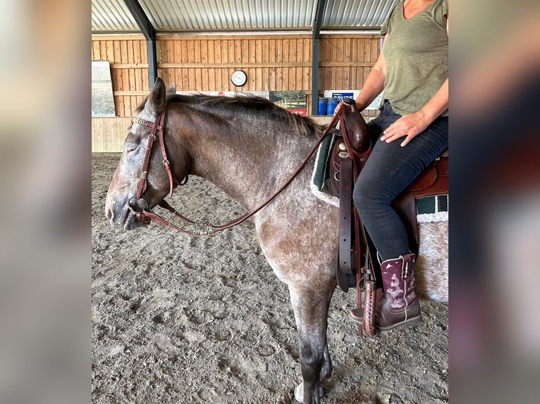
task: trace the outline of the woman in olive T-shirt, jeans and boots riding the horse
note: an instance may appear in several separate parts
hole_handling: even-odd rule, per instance
[[[374,322],[387,330],[422,322],[416,257],[391,203],[448,147],[448,0],[400,1],[381,34],[383,50],[356,105],[362,111],[383,91],[376,118],[383,134],[360,172],[353,200],[381,262],[384,293]],[[351,310],[350,317],[362,323],[362,309]]]

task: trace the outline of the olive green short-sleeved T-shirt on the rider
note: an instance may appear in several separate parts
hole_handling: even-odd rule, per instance
[[[422,108],[448,78],[448,0],[434,0],[417,15],[403,17],[403,1],[381,28],[386,80],[383,101],[400,115]],[[447,116],[448,109],[441,113]]]

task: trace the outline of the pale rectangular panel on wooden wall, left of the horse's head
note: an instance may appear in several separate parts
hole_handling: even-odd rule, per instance
[[[115,116],[109,61],[92,61],[92,116]]]

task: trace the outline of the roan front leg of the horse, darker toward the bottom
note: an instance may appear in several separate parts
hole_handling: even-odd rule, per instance
[[[332,361],[326,341],[332,295],[320,290],[300,291],[292,287],[289,287],[289,291],[295,313],[303,379],[303,383],[295,389],[295,398],[298,401],[303,400],[301,402],[305,404],[319,404],[323,396],[322,381],[328,379],[332,373]]]

